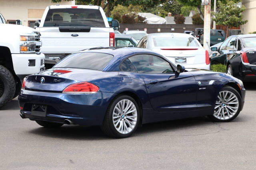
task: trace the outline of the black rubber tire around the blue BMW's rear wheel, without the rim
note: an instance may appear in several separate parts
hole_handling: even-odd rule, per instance
[[[130,133],[127,134],[122,134],[119,133],[116,128],[114,127],[114,123],[112,120],[112,114],[114,111],[114,107],[116,106],[116,104],[123,100],[123,99],[128,99],[130,101],[132,101],[137,109],[137,122],[136,125],[134,126],[134,129],[132,129],[132,131],[130,131]],[[140,122],[140,108],[137,104],[137,102],[130,96],[126,96],[126,95],[121,95],[121,96],[116,96],[116,98],[114,98],[112,100],[112,102],[110,103],[110,105],[108,106],[108,109],[106,111],[105,117],[104,117],[104,121],[102,123],[101,129],[102,131],[109,137],[115,137],[115,138],[126,138],[129,137],[130,135],[132,135],[132,133],[134,133],[134,131],[136,131],[138,124]]]

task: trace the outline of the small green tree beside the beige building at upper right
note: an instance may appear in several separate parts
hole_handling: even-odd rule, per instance
[[[227,4],[218,1],[218,6],[220,12],[214,13],[215,18],[212,18],[212,20],[216,21],[218,25],[226,25],[226,37],[228,36],[228,29],[230,27],[238,27],[248,21],[243,20],[242,16],[242,12],[246,9],[245,6],[239,8],[234,1],[229,1]]]

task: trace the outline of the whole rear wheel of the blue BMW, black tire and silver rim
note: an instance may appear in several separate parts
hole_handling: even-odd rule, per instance
[[[130,96],[117,96],[110,103],[102,124],[102,131],[116,138],[132,135],[138,127],[140,109],[136,101]]]

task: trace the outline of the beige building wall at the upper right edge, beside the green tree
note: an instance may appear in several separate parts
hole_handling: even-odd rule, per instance
[[[256,0],[242,0],[242,4],[246,7],[246,10],[242,13],[244,20],[248,22],[241,26],[242,33],[248,34],[256,31]]]

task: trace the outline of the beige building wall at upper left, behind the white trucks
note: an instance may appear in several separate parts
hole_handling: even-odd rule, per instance
[[[0,13],[5,20],[22,20],[22,25],[28,26],[28,21],[39,20],[47,6],[61,4],[74,5],[75,1],[52,3],[51,0],[0,0]]]

